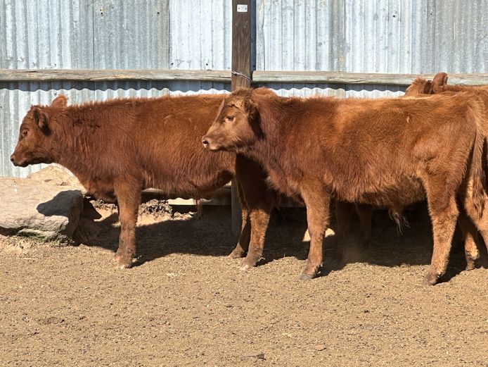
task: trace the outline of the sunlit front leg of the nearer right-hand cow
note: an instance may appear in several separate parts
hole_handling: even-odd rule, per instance
[[[315,277],[322,266],[323,236],[326,233],[330,211],[330,194],[320,184],[302,189],[302,198],[307,206],[307,224],[310,235],[310,249],[300,280]]]

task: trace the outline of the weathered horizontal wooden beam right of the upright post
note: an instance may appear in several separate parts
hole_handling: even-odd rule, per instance
[[[434,75],[256,70],[252,73],[252,82],[410,85],[416,77],[432,79]],[[488,74],[449,74],[449,84],[488,85]]]

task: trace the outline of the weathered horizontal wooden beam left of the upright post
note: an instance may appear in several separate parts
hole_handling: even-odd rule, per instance
[[[231,70],[91,70],[91,69],[0,69],[0,82],[113,82],[127,80],[231,82]]]

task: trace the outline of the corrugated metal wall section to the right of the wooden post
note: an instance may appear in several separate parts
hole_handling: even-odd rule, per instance
[[[487,0],[257,0],[256,69],[487,73],[487,21]],[[302,95],[338,97],[384,97],[404,90],[381,85],[271,87],[281,94],[295,88]]]

